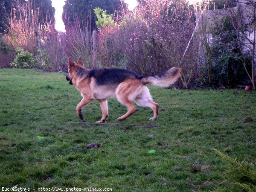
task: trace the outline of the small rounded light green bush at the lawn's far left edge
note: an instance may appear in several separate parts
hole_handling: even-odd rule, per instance
[[[23,48],[17,47],[15,49],[17,55],[14,61],[10,63],[10,66],[15,68],[31,68],[35,65],[35,59],[33,58],[33,53],[29,51],[24,51]]]

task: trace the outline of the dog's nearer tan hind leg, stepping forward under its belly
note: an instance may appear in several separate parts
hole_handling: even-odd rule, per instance
[[[127,113],[117,118],[117,120],[125,120],[128,116],[131,116],[135,111],[136,107],[133,105],[134,98],[139,94],[142,84],[139,80],[130,79],[122,82],[116,89],[116,98],[118,101],[125,105],[128,109]]]

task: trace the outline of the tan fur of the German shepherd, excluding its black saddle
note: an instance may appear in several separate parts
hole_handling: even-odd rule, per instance
[[[69,77],[72,80],[75,87],[81,93],[83,99],[76,107],[77,115],[83,119],[81,109],[93,100],[97,100],[101,107],[102,118],[97,121],[98,123],[105,122],[108,118],[108,98],[116,97],[117,100],[125,105],[127,113],[120,116],[118,120],[124,120],[128,116],[131,116],[137,111],[134,106],[134,102],[142,107],[151,108],[154,112],[153,117],[149,120],[153,121],[157,119],[159,105],[153,102],[153,99],[149,93],[146,83],[155,84],[158,86],[167,86],[176,81],[180,76],[180,68],[173,67],[167,71],[163,76],[151,76],[144,79],[127,79],[117,86],[114,85],[97,85],[96,79],[93,77],[76,77],[76,67],[84,67],[83,61],[79,58],[75,64],[71,58],[69,58]],[[174,72],[175,71],[175,72]]]

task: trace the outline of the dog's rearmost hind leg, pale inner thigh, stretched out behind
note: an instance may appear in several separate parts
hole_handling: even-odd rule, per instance
[[[134,101],[137,105],[151,108],[154,111],[154,116],[151,117],[149,121],[154,121],[157,119],[159,105],[153,102],[148,87],[143,86],[141,93],[134,99]]]

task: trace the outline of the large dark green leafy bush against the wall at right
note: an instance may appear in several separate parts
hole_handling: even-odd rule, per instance
[[[241,52],[244,46],[240,44],[242,37],[227,17],[215,20],[210,33],[211,64],[203,64],[201,68],[202,83],[224,86],[240,84],[246,77],[244,65],[250,65],[248,54]],[[209,62],[209,59],[206,61]]]

